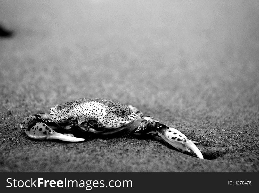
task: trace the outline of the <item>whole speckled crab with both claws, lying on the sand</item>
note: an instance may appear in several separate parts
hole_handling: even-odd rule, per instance
[[[181,152],[192,150],[198,158],[203,159],[195,145],[198,142],[191,141],[177,129],[144,115],[132,105],[123,105],[109,99],[80,98],[55,105],[50,113],[25,117],[21,129],[33,139],[67,142],[85,141],[81,138],[82,132],[108,135],[127,129],[135,135],[152,135]],[[82,131],[80,137],[76,136],[77,131]]]

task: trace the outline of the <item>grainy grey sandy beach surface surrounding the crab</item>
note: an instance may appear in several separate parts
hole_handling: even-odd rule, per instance
[[[258,172],[258,1],[0,1],[0,172]],[[204,159],[126,131],[29,139],[77,98],[132,104]]]

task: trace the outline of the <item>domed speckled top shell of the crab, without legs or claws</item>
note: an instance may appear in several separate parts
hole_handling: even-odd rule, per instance
[[[95,120],[98,128],[108,130],[126,126],[137,116],[121,103],[102,98],[80,98],[56,105],[50,111],[56,121],[72,119],[80,125],[85,121]]]

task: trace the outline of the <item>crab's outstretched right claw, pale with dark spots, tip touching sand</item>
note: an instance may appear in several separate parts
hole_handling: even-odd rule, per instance
[[[161,124],[162,126],[162,124]],[[159,127],[157,127],[159,128]],[[161,127],[161,129],[158,129],[157,134],[165,140],[167,143],[169,143],[174,148],[178,149],[181,152],[188,151],[191,149],[198,158],[203,159],[202,153],[200,150],[195,146],[193,141],[187,139],[187,137],[182,134],[180,131],[178,131],[175,128],[165,128]],[[189,149],[188,149],[189,148]]]

